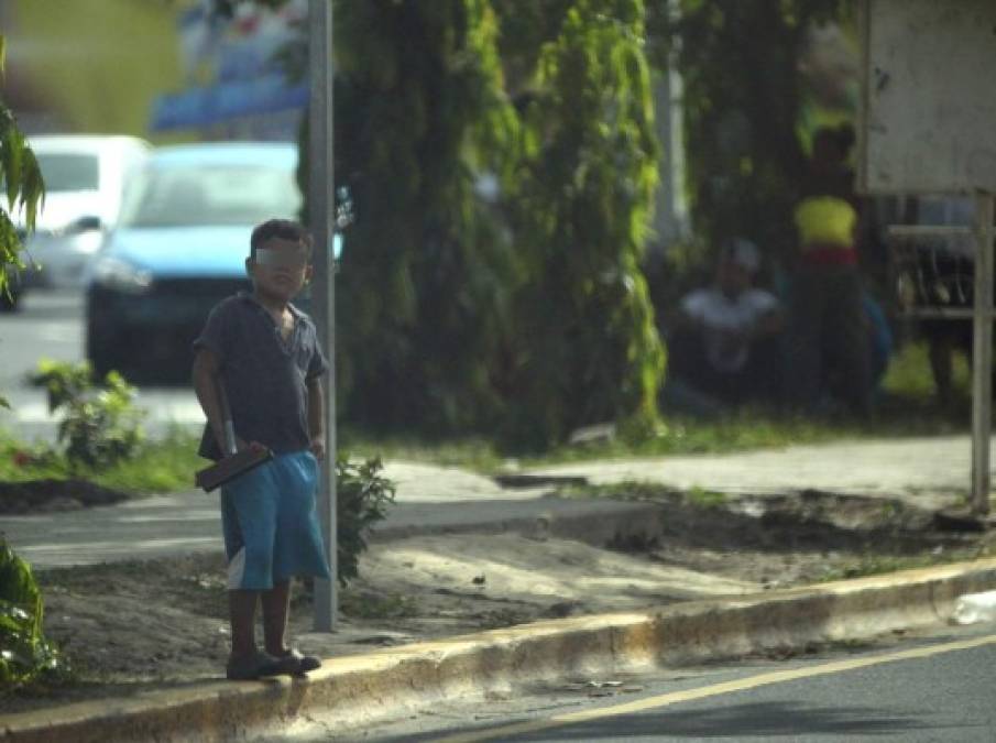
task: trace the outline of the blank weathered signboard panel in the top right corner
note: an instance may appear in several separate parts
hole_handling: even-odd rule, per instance
[[[864,0],[858,187],[996,193],[996,2]]]

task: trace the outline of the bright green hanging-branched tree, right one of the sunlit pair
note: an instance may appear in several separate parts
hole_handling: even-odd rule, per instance
[[[658,152],[643,40],[639,0],[577,0],[538,57],[515,178],[521,442],[656,419],[665,353],[641,258]]]

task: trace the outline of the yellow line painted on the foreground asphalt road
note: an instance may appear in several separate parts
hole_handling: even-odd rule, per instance
[[[720,695],[732,693],[734,691],[756,689],[757,687],[769,686],[771,684],[784,684],[786,681],[795,681],[801,678],[841,674],[846,670],[867,668],[868,666],[878,666],[886,663],[896,663],[897,660],[929,658],[932,655],[953,653],[955,651],[967,651],[973,647],[994,644],[996,644],[996,635],[986,635],[984,637],[961,640],[957,642],[944,643],[942,645],[913,647],[907,651],[889,653],[888,655],[850,658],[847,660],[835,660],[833,663],[824,663],[818,666],[807,666],[805,668],[776,670],[768,674],[759,674],[758,676],[749,676],[747,678],[736,679],[733,681],[723,681],[722,684],[703,686],[697,689],[671,691],[669,693],[657,695],[656,697],[637,699],[624,704],[598,707],[589,710],[581,710],[580,712],[555,714],[554,717],[543,720],[530,720],[528,722],[504,725],[502,728],[491,728],[489,730],[481,730],[477,732],[458,733],[448,737],[438,739],[436,743],[477,743],[477,741],[490,741],[496,737],[507,737],[510,735],[521,735],[523,733],[535,733],[541,730],[562,728],[565,725],[570,725],[578,722],[587,722],[589,720],[598,720],[600,718],[611,718],[619,714],[643,712],[656,707],[668,707],[669,704],[678,704],[681,702],[694,701],[697,699],[705,699],[708,697],[719,697]]]

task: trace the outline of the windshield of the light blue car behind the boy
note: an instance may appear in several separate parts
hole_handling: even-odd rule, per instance
[[[300,194],[289,168],[189,165],[147,168],[125,194],[122,227],[255,225],[293,218]]]

